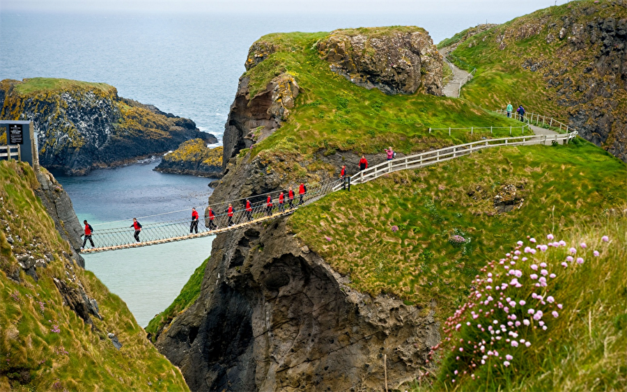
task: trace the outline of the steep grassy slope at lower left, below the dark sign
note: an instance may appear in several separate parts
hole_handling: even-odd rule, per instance
[[[22,239],[13,244],[14,251],[54,256],[47,268],[37,269],[38,282],[22,272],[22,283],[15,283],[5,273],[17,262],[5,230],[0,231],[0,390],[187,391],[183,376],[146,340],[124,302],[91,272],[74,268],[104,320],[93,318],[91,329],[63,304],[53,279],[65,279],[62,252],[70,249],[34,196],[36,186],[28,165],[0,162],[0,218],[14,240]],[[114,348],[109,332],[123,344],[121,350]]]

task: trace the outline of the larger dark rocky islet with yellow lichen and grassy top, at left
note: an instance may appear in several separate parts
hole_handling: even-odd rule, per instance
[[[62,79],[47,79],[52,83]],[[30,87],[39,78],[0,82],[2,118],[33,120],[40,164],[68,175],[116,166],[173,150],[189,139],[210,143],[192,120],[118,97],[115,88],[75,82],[50,90]]]

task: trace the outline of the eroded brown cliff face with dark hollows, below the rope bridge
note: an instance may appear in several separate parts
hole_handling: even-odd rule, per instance
[[[157,338],[192,391],[380,391],[396,388],[439,340],[433,311],[375,299],[285,227],[219,235],[201,295]]]

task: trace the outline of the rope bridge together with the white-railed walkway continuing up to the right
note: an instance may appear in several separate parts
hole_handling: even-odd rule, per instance
[[[570,130],[572,130],[572,128]],[[546,145],[550,143],[568,143],[568,141],[573,139],[577,134],[577,131],[572,131],[567,134],[543,134],[506,137],[500,139],[485,139],[481,141],[474,141],[472,143],[440,148],[439,150],[421,152],[415,155],[408,155],[383,162],[376,166],[371,166],[364,171],[356,173],[352,176],[352,178],[348,177],[348,187],[350,189],[351,182],[353,182],[353,184],[361,184],[374,180],[375,178],[387,173],[412,168],[421,168],[430,164],[469,155],[472,152],[482,150],[483,148],[493,148],[499,146],[525,146],[530,144]],[[302,196],[302,198],[299,195],[298,189],[294,190],[293,201],[290,201],[288,198],[288,191],[284,190],[283,204],[279,204],[278,201],[279,191],[259,194],[251,196],[250,198],[240,198],[233,201],[212,204],[206,208],[204,219],[199,219],[199,221],[196,221],[196,224],[192,224],[190,217],[144,224],[141,227],[141,232],[139,233],[139,242],[134,239],[134,228],[126,225],[127,223],[130,223],[130,221],[125,221],[126,224],[122,227],[95,230],[91,236],[95,247],[82,249],[81,253],[95,253],[113,251],[117,249],[137,248],[139,246],[165,244],[167,242],[207,237],[209,235],[224,233],[229,230],[236,230],[238,228],[268,221],[285,214],[291,214],[301,205],[312,203],[326,194],[330,194],[333,191],[346,187],[346,185],[346,182],[343,180],[327,180],[325,182],[308,183],[305,185],[307,192]],[[274,194],[274,197],[272,194]],[[272,207],[268,207],[267,205],[268,196],[270,196],[272,201]],[[248,199],[251,201],[249,211],[246,208],[246,202]],[[229,216],[229,205],[232,206],[232,216]],[[214,219],[210,219],[209,217],[209,207],[214,214]],[[189,212],[189,210],[185,211]],[[163,216],[171,213],[172,212],[155,214],[151,217]],[[118,222],[109,222],[107,226]],[[89,244],[91,243],[87,241],[85,245]]]

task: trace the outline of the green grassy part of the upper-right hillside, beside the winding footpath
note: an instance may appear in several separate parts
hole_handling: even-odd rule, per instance
[[[616,20],[625,18],[627,8],[611,1],[573,1],[538,10],[472,36],[454,52],[470,64],[471,68],[477,68],[476,77],[464,86],[462,97],[488,109],[504,109],[508,102],[516,109],[518,104],[522,104],[527,111],[566,120],[568,111],[576,111],[576,104],[582,98],[582,93],[574,91],[571,104],[568,105],[573,108],[560,106],[559,101],[563,97],[558,96],[557,91],[563,86],[550,88],[546,78],[566,75],[560,80],[566,80],[573,86],[592,83],[587,78],[594,75],[594,72],[590,74],[585,68],[596,61],[590,58],[590,54],[601,52],[599,47],[602,42],[601,39],[595,44],[586,42],[583,49],[571,52],[571,45],[568,44],[571,29],[568,29],[566,38],[559,40],[559,26],[564,19],[570,19],[575,25],[585,26],[597,18],[607,17],[614,17]],[[552,26],[553,21],[559,25],[557,30]],[[555,37],[554,42],[547,41],[549,34]],[[506,47],[502,50],[499,49],[500,42],[497,40],[499,36],[505,37]],[[542,65],[533,72],[522,68],[525,61]],[[604,81],[608,84],[614,83],[609,77]],[[616,103],[625,109],[627,102],[621,98],[627,98],[627,95],[621,91],[615,93]],[[596,96],[589,105],[604,99],[600,95]]]

